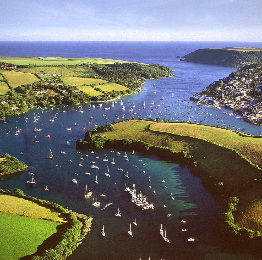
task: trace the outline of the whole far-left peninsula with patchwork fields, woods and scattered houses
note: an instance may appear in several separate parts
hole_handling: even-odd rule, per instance
[[[0,117],[34,106],[106,101],[142,91],[146,79],[174,70],[99,58],[0,57]]]

